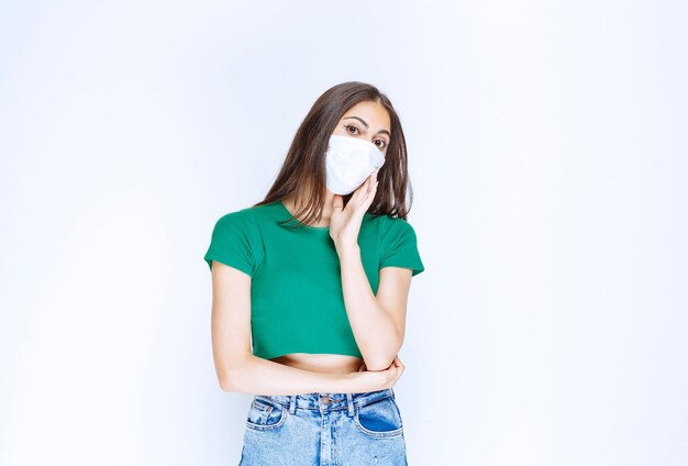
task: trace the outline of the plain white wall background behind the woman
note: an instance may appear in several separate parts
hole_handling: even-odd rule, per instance
[[[202,255],[315,98],[392,99],[414,465],[688,463],[688,4],[0,2],[0,464],[237,464]]]

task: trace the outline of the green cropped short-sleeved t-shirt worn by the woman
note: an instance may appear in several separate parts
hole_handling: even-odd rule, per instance
[[[362,357],[342,291],[340,259],[329,226],[280,225],[291,213],[281,201],[221,217],[204,259],[252,277],[251,333],[255,356],[290,353]],[[398,218],[366,213],[358,246],[370,288],[377,295],[382,267],[424,270],[415,232]]]

